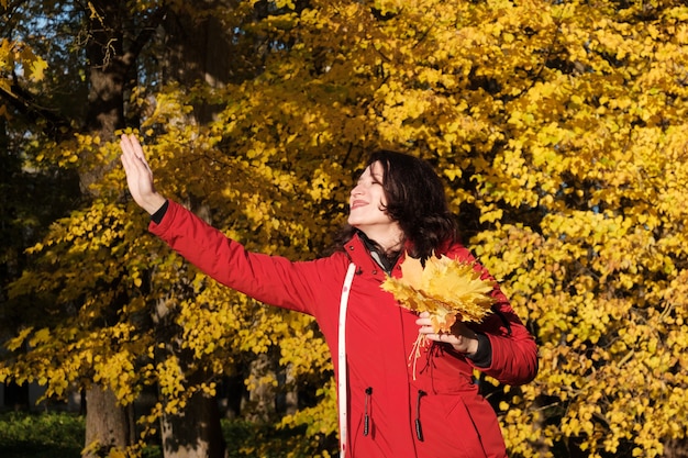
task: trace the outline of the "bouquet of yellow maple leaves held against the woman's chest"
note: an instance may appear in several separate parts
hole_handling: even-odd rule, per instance
[[[381,288],[391,292],[401,306],[428,312],[435,333],[450,333],[457,320],[480,323],[495,303],[490,295],[493,281],[484,280],[474,262],[446,256],[431,256],[424,268],[420,259],[407,256],[401,262],[401,278],[388,277]],[[419,334],[409,356],[414,378],[415,361],[425,344],[425,336]]]

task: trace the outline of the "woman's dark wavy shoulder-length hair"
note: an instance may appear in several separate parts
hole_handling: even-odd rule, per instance
[[[457,224],[450,212],[444,186],[434,168],[421,158],[378,149],[370,154],[366,167],[382,167],[382,190],[387,214],[397,221],[414,258],[428,259],[434,250],[458,239]],[[346,243],[356,228],[346,225],[336,236],[339,246]]]

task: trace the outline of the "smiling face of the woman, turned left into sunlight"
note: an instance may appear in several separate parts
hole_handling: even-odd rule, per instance
[[[373,163],[365,169],[351,192],[348,203],[348,224],[373,239],[377,239],[377,233],[397,226],[384,210],[387,199],[382,190],[382,166],[379,163]]]

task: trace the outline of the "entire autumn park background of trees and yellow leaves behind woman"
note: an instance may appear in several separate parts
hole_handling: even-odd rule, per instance
[[[367,152],[430,160],[540,346],[532,383],[480,380],[510,456],[687,456],[684,1],[0,11],[0,381],[51,412],[78,398],[85,457],[336,450],[312,320],[147,234],[122,132],[164,194],[292,259],[325,252]]]

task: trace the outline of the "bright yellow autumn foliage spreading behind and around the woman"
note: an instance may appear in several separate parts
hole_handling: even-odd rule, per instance
[[[541,346],[533,383],[482,383],[511,455],[681,453],[683,2],[215,7],[226,58],[241,63],[232,77],[135,79],[125,105],[166,196],[249,249],[308,259],[341,223],[366,152],[420,155]],[[116,154],[86,135],[81,148]],[[5,347],[33,349],[4,373],[26,379],[31,366],[56,394],[96,381],[123,403],[155,383],[157,420],[212,395],[240,358],[273,353],[296,382],[319,386],[281,425],[306,428],[313,450],[332,437],[331,369],[310,319],[219,287],[146,236],[121,169],[92,185],[98,198],[31,249],[36,267],[11,290],[49,294],[74,319],[21,329]],[[278,372],[248,383],[278,384]]]

